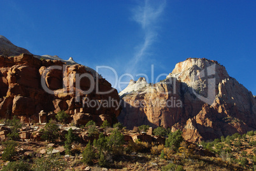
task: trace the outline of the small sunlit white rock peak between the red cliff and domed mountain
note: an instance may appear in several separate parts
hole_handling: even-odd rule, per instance
[[[124,90],[122,90],[122,92],[118,93],[118,95],[122,96],[124,94],[129,94],[133,91],[136,92],[137,90],[148,85],[149,84],[146,82],[145,78],[140,77],[138,81],[134,81],[133,79],[131,79],[129,85]]]

